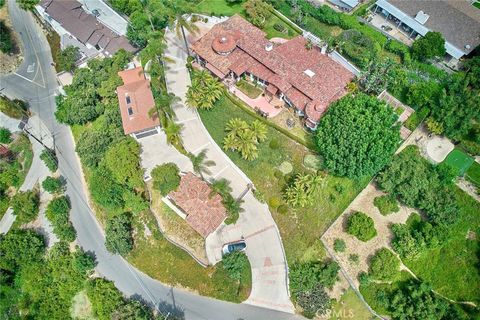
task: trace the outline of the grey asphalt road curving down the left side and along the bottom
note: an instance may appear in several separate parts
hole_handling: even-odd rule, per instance
[[[163,313],[183,315],[185,319],[297,319],[296,315],[272,311],[246,304],[233,304],[198,296],[183,290],[170,288],[139,272],[122,257],[105,249],[104,237],[88,206],[83,189],[83,176],[70,129],[55,121],[55,94],[58,92],[50,48],[34,18],[18,8],[15,1],[8,1],[12,23],[20,33],[25,61],[16,73],[0,77],[0,89],[9,97],[22,98],[30,103],[32,112],[55,137],[59,168],[67,179],[67,195],[72,204],[71,219],[77,230],[77,239],[87,251],[93,252],[98,261],[97,272],[126,295],[141,298],[155,305]],[[46,131],[46,130],[44,130]],[[47,136],[48,132],[37,132]]]

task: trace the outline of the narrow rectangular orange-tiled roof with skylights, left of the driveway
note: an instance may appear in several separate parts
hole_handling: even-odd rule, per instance
[[[148,112],[155,106],[150,81],[145,79],[142,67],[120,71],[123,85],[117,88],[118,103],[125,134],[140,132],[159,126],[157,117]]]

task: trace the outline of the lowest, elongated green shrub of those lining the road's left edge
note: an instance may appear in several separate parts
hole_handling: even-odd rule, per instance
[[[72,242],[77,235],[70,222],[70,203],[65,196],[53,199],[47,206],[45,216],[53,225],[53,232],[61,240]]]

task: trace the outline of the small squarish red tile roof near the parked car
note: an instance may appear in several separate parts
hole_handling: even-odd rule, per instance
[[[171,192],[169,197],[187,214],[187,223],[204,238],[227,218],[222,197],[212,195],[208,183],[191,172],[182,176],[177,191]]]

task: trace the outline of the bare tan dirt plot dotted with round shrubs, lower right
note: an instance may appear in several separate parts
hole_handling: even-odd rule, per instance
[[[377,189],[373,182],[368,184],[322,236],[322,241],[330,249],[330,252],[334,252],[333,243],[335,239],[343,239],[345,241],[346,250],[344,252],[334,252],[334,254],[338,263],[354,281],[357,288],[359,286],[358,274],[362,271],[368,271],[369,259],[378,249],[382,247],[391,248],[390,243],[393,234],[390,230],[390,225],[405,223],[410,213],[415,212],[415,209],[400,204],[398,212],[383,216],[378,208],[373,205],[373,200],[384,194],[384,192]],[[354,211],[364,212],[373,219],[377,236],[367,242],[363,242],[345,232],[346,220]],[[349,257],[352,254],[358,255],[358,263],[350,261]]]

